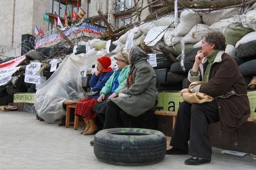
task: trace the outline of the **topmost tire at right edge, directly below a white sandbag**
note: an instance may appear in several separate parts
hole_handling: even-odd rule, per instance
[[[246,42],[237,47],[237,58],[254,57],[256,56],[256,40]]]

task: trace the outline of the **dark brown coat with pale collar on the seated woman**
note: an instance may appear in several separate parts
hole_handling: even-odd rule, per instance
[[[208,61],[200,64],[203,77]],[[197,79],[200,74],[197,76]],[[202,79],[202,77],[200,77]],[[189,74],[190,82],[196,81]],[[211,67],[209,81],[200,85],[200,92],[215,97],[217,101],[221,132],[230,132],[242,125],[250,116],[250,104],[244,78],[234,59],[219,51]]]

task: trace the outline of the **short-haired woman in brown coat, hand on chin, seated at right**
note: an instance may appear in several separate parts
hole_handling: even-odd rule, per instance
[[[224,52],[223,34],[210,32],[204,35],[201,48],[188,80],[206,83],[196,85],[190,92],[202,92],[215,99],[202,104],[186,101],[180,104],[171,136],[173,148],[166,153],[192,155],[185,160],[186,165],[211,162],[210,123],[220,121],[221,132],[229,132],[242,125],[250,115],[246,84],[234,59]],[[183,89],[181,95],[187,91]]]

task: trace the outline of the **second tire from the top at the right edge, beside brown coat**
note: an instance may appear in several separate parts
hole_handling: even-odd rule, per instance
[[[256,59],[247,61],[238,66],[243,76],[256,75]]]

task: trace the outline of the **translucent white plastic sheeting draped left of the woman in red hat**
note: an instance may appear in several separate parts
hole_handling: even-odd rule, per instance
[[[45,122],[52,123],[66,115],[62,103],[85,97],[81,70],[90,69],[97,57],[85,54],[70,55],[64,59],[54,74],[36,92],[35,110]]]

